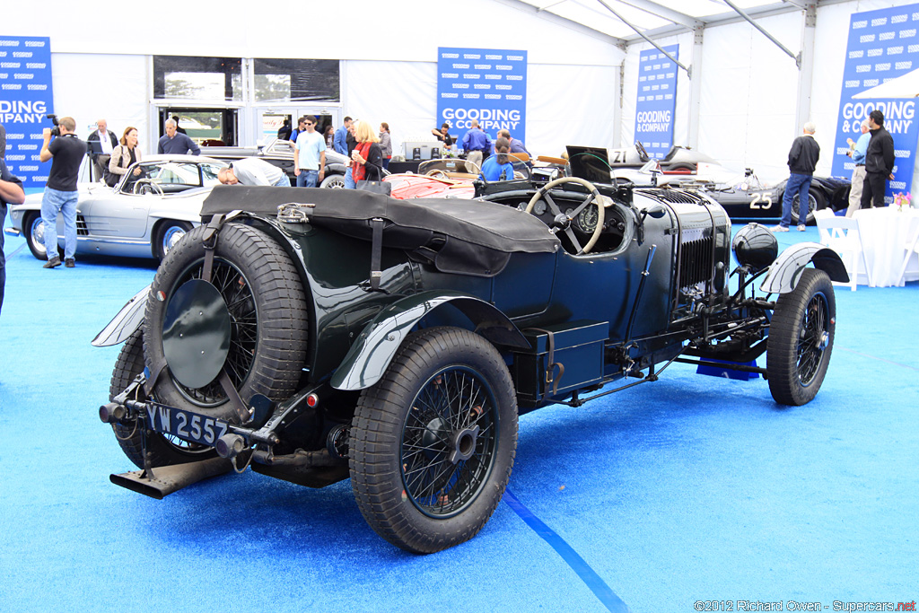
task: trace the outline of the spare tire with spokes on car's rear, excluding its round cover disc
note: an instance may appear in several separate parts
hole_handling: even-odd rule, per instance
[[[163,325],[166,307],[176,289],[201,278],[206,227],[187,233],[166,254],[144,315],[144,356],[147,366],[165,361]],[[300,275],[288,255],[267,234],[239,223],[227,223],[214,250],[210,283],[228,305],[231,318],[229,354],[224,370],[248,403],[256,393],[283,400],[296,391],[306,358],[307,308]],[[178,408],[238,421],[219,378],[199,387],[179,383],[163,369],[154,388],[157,398]]]

